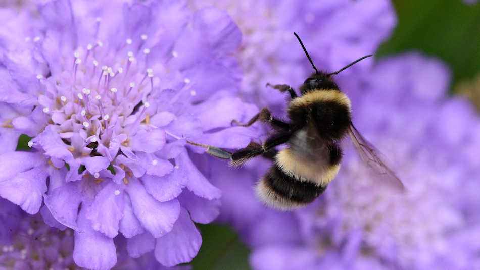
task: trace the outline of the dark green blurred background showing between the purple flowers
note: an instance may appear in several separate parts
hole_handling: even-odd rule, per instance
[[[411,50],[436,57],[451,69],[451,95],[467,96],[480,108],[480,4],[471,2],[393,1],[398,23],[376,60]],[[230,226],[198,228],[203,244],[193,269],[251,269],[249,248]]]

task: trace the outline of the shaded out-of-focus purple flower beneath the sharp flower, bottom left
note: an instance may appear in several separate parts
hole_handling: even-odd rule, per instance
[[[0,239],[0,268],[7,269],[85,269],[73,260],[73,230],[59,230],[43,222],[40,213],[30,215],[19,206],[0,199],[2,237]],[[140,258],[128,256],[127,240],[115,239],[117,264],[113,270],[127,269],[171,269],[185,267],[162,267],[156,263],[153,253]]]

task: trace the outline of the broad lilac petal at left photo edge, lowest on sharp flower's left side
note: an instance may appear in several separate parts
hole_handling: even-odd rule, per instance
[[[28,161],[27,161],[28,162]],[[46,192],[45,167],[38,166],[0,182],[0,196],[20,205],[29,214],[38,212]]]

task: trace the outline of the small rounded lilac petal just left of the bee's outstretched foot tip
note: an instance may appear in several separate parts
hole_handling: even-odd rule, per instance
[[[130,147],[133,151],[153,153],[162,149],[164,145],[165,131],[162,129],[140,130],[130,139]]]

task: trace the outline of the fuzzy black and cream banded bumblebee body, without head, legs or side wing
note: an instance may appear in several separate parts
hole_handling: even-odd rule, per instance
[[[256,185],[261,200],[275,208],[300,207],[323,193],[340,170],[340,140],[351,123],[350,100],[338,89],[302,89],[287,111],[293,123],[289,147],[278,151]]]

